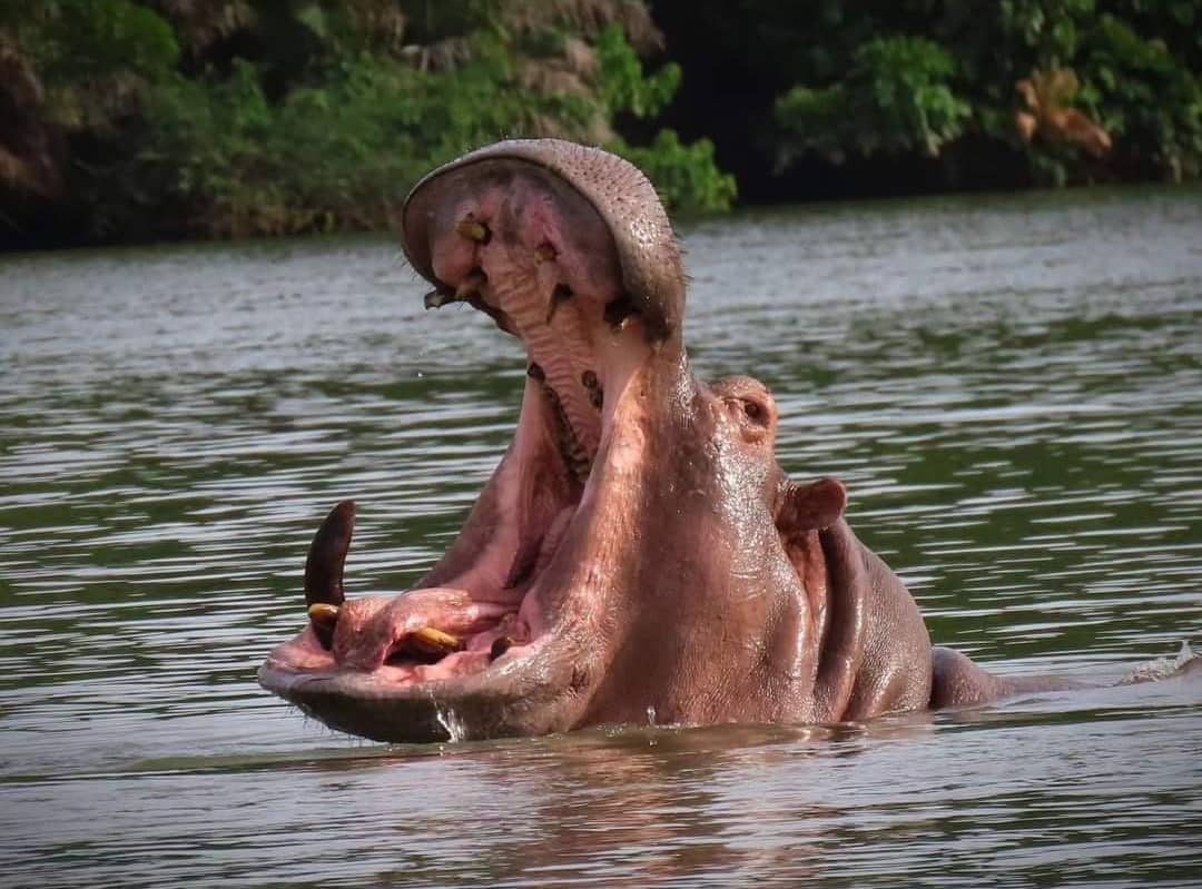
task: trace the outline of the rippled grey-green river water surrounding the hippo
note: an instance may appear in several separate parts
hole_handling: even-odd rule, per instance
[[[1115,682],[1202,648],[1202,192],[810,207],[684,232],[933,637]],[[317,521],[351,595],[442,550],[516,344],[394,244],[0,258],[0,884],[1202,885],[1202,675],[838,727],[386,746],[261,691]]]

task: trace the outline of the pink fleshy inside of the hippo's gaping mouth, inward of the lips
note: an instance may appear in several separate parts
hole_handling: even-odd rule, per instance
[[[555,563],[582,555],[560,550],[581,538],[570,529],[587,521],[615,406],[651,351],[582,197],[549,175],[489,167],[444,197],[422,229],[436,281],[424,304],[468,303],[522,341],[513,446],[459,541],[400,596],[345,598],[356,511],[339,503],[305,562],[309,630],[273,652],[297,672],[357,672],[377,691],[505,670],[554,634],[571,596]]]

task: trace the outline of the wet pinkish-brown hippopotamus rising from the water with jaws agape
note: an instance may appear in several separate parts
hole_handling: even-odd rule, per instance
[[[415,589],[346,598],[353,502],[305,566],[309,622],[260,682],[383,741],[600,723],[834,723],[1055,680],[933,648],[831,478],[790,479],[758,381],[706,383],[682,249],[647,178],[596,148],[508,141],[422,179],[403,249],[427,308],[520,340],[513,442]]]

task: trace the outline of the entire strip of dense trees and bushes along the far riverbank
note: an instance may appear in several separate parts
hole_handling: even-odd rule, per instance
[[[382,227],[506,136],[682,211],[1188,179],[1200,71],[1202,0],[0,0],[0,239]]]

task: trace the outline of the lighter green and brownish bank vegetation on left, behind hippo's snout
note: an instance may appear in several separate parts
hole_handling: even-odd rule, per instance
[[[674,205],[724,209],[709,143],[612,126],[679,84],[676,65],[644,74],[636,47],[657,41],[625,2],[0,0],[8,221],[83,239],[382,227],[422,173],[519,135],[609,145]]]

